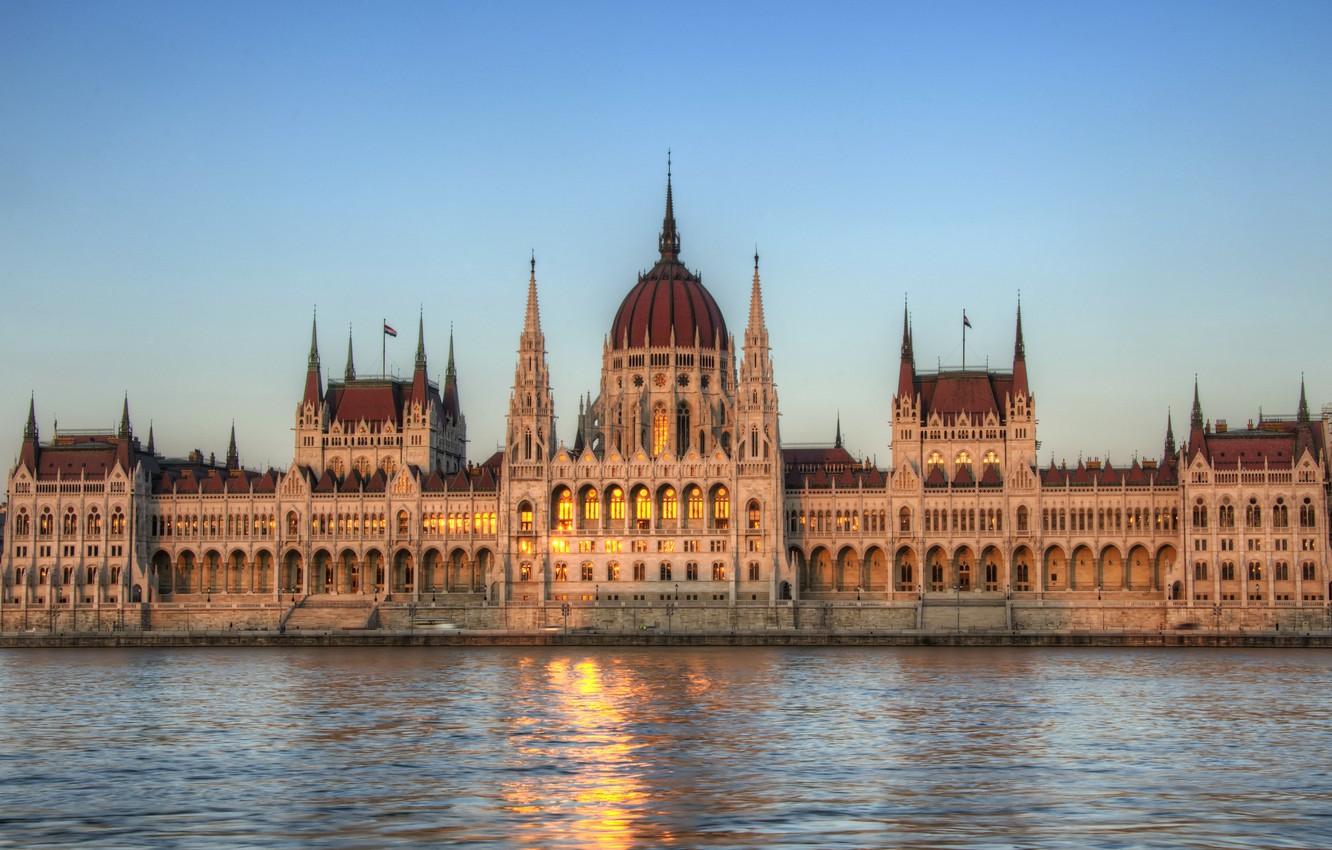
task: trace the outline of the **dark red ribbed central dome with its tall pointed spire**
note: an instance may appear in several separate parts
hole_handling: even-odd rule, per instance
[[[679,261],[679,233],[671,208],[670,172],[666,172],[666,218],[658,238],[661,260],[629,290],[610,326],[610,346],[702,348],[726,345],[726,320],[713,294]]]

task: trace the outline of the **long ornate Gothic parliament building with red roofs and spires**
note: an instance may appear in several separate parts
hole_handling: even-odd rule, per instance
[[[312,328],[286,469],[52,433],[29,402],[8,478],[0,629],[1167,629],[1328,617],[1328,410],[1167,418],[1160,456],[1042,466],[1015,310],[1011,368],[916,368],[902,324],[887,468],[840,429],[783,446],[758,256],[737,338],[681,260],[619,305],[601,386],[557,440],[535,260],[503,449],[466,457],[453,362],[325,382]],[[293,378],[296,376],[293,374]],[[294,385],[294,380],[293,380]],[[1292,381],[1292,401],[1296,398]],[[17,412],[16,412],[17,413]],[[570,620],[570,617],[573,620]]]

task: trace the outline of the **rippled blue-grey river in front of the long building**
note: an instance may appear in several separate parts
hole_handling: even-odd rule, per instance
[[[1332,654],[0,653],[0,846],[1327,847]]]

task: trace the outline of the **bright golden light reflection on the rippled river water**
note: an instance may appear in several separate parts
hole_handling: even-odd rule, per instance
[[[534,815],[526,822],[527,843],[635,846],[646,791],[634,754],[643,742],[627,731],[626,706],[641,705],[646,686],[625,665],[595,657],[551,658],[539,678],[547,705],[539,717],[514,717],[510,742],[523,761],[557,763],[538,781],[503,786],[511,811]],[[551,781],[550,773],[562,779]]]

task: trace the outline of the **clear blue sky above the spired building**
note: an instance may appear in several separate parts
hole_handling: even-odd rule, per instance
[[[1332,401],[1332,4],[0,0],[0,452],[113,426],[286,466],[325,370],[454,328],[502,440],[529,250],[561,417],[657,254],[746,320],[755,245],[787,442],[887,464],[903,298],[922,368],[1007,368],[1042,462],[1205,413]],[[1183,436],[1183,434],[1180,434]]]

